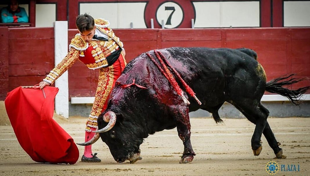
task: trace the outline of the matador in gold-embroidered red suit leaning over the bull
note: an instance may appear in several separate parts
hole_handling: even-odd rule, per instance
[[[109,28],[108,20],[93,19],[90,15],[83,14],[77,17],[76,24],[79,33],[71,40],[68,54],[39,86],[43,88],[53,84],[77,60],[89,69],[100,69],[95,101],[86,122],[87,142],[95,135],[91,131],[97,129],[98,116],[106,109],[108,97],[126,66],[126,60],[123,43]],[[92,154],[91,145],[85,146],[82,162],[100,162],[96,154]]]

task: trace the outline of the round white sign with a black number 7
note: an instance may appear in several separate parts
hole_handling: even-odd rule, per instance
[[[175,2],[164,2],[156,10],[157,23],[165,28],[176,28],[184,19],[184,12],[181,6]]]

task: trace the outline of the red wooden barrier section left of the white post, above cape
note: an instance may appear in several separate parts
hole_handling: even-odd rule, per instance
[[[54,68],[54,28],[8,29],[9,91],[33,86]]]

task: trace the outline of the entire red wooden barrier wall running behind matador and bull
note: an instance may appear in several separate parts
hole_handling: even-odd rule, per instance
[[[4,61],[1,60],[4,64],[0,66],[0,81],[4,82],[0,85],[2,99],[17,86],[37,84],[54,67],[53,28],[6,28],[0,32],[6,30],[8,72],[4,55]],[[171,46],[247,47],[258,53],[268,80],[286,73],[310,77],[310,28],[115,29],[114,32],[124,43],[127,61],[143,52]],[[77,30],[69,29],[68,42],[75,33]],[[3,36],[1,39],[4,46],[6,39]],[[69,96],[94,96],[98,74],[81,62],[74,64],[69,69]],[[309,82],[294,87],[309,86]]]

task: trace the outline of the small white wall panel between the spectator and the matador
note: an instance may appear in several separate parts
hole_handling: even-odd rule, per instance
[[[36,27],[53,27],[56,21],[56,4],[36,4]]]

